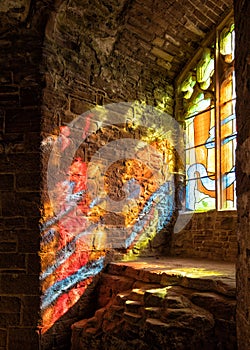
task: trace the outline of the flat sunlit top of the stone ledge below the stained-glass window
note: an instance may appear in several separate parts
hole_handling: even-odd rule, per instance
[[[225,291],[221,289],[218,292],[235,295],[235,264],[229,262],[178,257],[138,258],[133,261],[111,263],[107,271],[114,274],[119,272],[120,275],[162,285],[168,284],[171,278],[193,280],[194,283],[195,280],[203,280],[204,283],[212,281],[214,285],[225,285]]]

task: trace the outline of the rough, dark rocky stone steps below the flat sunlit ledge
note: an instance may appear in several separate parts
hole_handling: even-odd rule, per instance
[[[98,309],[72,326],[72,350],[236,349],[232,276],[135,266],[102,273]]]

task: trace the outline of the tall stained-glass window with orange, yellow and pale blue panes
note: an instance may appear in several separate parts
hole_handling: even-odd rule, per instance
[[[188,140],[186,210],[236,207],[233,24],[221,31],[218,43],[217,75],[214,50],[206,48],[180,87]]]

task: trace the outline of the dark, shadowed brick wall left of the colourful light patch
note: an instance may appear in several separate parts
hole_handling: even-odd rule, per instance
[[[42,38],[28,3],[0,7],[0,348],[10,350],[39,346]]]

